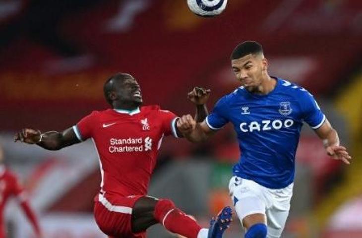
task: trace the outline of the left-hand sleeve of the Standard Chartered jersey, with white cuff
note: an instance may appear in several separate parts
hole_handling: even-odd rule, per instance
[[[98,114],[99,112],[93,111],[73,126],[73,130],[80,141],[84,141],[93,136],[93,128],[97,123]]]

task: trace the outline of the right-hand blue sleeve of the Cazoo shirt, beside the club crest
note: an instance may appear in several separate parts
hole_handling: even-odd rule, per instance
[[[304,97],[302,97],[301,107],[303,112],[303,120],[313,129],[319,128],[326,117],[323,112],[320,110],[317,102],[315,101],[313,95],[309,92],[304,91]]]

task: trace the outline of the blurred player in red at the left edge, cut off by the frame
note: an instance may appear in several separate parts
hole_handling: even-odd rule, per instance
[[[27,199],[26,192],[24,188],[20,185],[18,178],[13,174],[9,169],[7,169],[3,164],[4,154],[0,146],[0,238],[5,238],[5,226],[3,221],[3,211],[6,205],[6,202],[11,196],[16,197],[17,201],[20,203],[22,210],[25,215],[28,217],[31,225],[34,228],[37,238],[41,238],[41,231],[38,220],[35,216],[35,213],[30,207],[30,204]]]

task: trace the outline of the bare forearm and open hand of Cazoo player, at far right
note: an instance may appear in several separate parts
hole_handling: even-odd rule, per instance
[[[323,140],[324,147],[329,156],[336,160],[342,160],[348,165],[350,164],[351,156],[348,154],[347,149],[339,144],[338,133],[327,119],[315,130],[315,133]]]

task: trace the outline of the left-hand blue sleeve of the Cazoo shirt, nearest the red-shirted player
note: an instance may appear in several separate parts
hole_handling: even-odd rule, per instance
[[[215,107],[212,110],[211,114],[206,117],[206,123],[211,129],[221,129],[221,127],[229,122],[227,108],[228,105],[225,96],[215,104]]]

